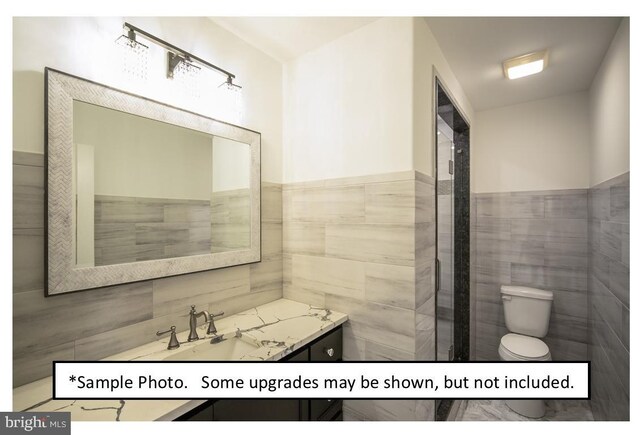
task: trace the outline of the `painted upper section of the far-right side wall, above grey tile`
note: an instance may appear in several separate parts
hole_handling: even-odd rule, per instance
[[[629,170],[629,18],[623,18],[589,90],[590,185]]]

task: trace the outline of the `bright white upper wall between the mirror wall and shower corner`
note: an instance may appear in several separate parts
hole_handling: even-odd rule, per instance
[[[285,182],[410,170],[412,18],[381,18],[285,64]]]

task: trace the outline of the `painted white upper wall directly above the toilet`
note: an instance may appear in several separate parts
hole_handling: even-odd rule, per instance
[[[474,191],[589,187],[586,91],[476,112]]]

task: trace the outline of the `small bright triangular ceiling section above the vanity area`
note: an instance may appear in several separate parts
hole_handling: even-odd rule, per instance
[[[375,17],[210,17],[271,57],[286,62],[365,26]]]

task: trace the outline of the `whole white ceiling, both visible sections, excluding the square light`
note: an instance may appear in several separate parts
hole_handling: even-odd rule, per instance
[[[375,17],[210,17],[280,62],[365,26]],[[586,90],[619,17],[425,18],[476,111]],[[549,49],[542,73],[507,80],[506,59]]]

